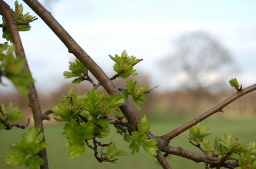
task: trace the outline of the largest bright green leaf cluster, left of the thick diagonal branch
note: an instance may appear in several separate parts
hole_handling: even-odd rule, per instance
[[[104,97],[104,92],[98,93],[96,89],[76,96],[73,87],[70,87],[68,96],[63,95],[61,103],[52,107],[53,114],[61,117],[54,117],[56,121],[70,122],[65,124],[65,132],[62,133],[68,139],[65,145],[65,149],[70,149],[68,156],[76,158],[83,153],[86,150],[84,141],[108,136],[108,124],[115,121],[103,117],[121,105],[124,105],[122,96]]]

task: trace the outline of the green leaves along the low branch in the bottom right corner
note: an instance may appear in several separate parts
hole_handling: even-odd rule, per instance
[[[225,135],[221,137],[214,137],[214,145],[212,145],[209,140],[205,138],[205,136],[210,135],[207,133],[209,128],[201,128],[200,124],[198,124],[189,130],[188,139],[196,142],[197,147],[200,147],[200,143],[202,142],[205,147],[204,151],[207,152],[207,154],[211,152],[212,156],[222,156],[224,161],[238,161],[239,167],[236,169],[256,168],[255,142],[247,144],[238,138],[232,140],[232,135],[227,131]]]

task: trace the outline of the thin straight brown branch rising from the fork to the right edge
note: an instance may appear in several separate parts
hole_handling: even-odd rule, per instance
[[[190,121],[182,124],[178,128],[173,129],[173,131],[171,131],[170,133],[167,133],[166,135],[161,136],[161,138],[163,138],[164,140],[168,140],[168,142],[170,142],[170,140],[175,138],[175,136],[180,135],[187,129],[191,128],[192,126],[195,126],[196,124],[198,124],[198,122],[203,121],[204,119],[211,116],[212,114],[215,114],[216,112],[220,112],[223,107],[226,107],[227,105],[229,105],[236,99],[240,98],[244,94],[248,94],[249,92],[252,92],[255,90],[256,90],[256,84],[250,85],[249,87],[246,87],[246,88],[242,89],[241,91],[238,91],[238,92],[232,94],[224,101],[221,101],[218,105],[210,108],[209,110],[205,111],[204,113],[202,113],[202,114],[196,116],[195,118],[191,119]]]

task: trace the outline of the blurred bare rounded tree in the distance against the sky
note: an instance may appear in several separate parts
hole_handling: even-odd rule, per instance
[[[211,76],[220,71],[227,73],[234,64],[220,41],[203,31],[183,34],[173,47],[174,52],[160,62],[160,67],[165,73],[182,78],[181,86],[185,89],[203,89],[220,83]]]

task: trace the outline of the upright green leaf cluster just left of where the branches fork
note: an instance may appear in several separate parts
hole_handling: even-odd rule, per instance
[[[135,152],[140,151],[140,146],[142,145],[144,151],[148,152],[152,156],[156,156],[157,142],[154,139],[148,139],[146,132],[151,128],[149,124],[149,119],[146,115],[141,115],[141,120],[138,124],[138,131],[132,131],[133,140],[129,146],[132,149],[132,155]]]

